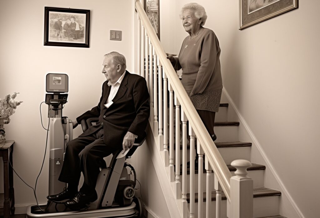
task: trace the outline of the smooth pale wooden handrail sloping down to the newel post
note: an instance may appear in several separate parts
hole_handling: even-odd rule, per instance
[[[212,141],[211,136],[205,128],[202,120],[200,119],[195,107],[190,107],[192,105],[192,102],[184,87],[182,86],[175,70],[173,69],[171,62],[169,61],[169,59],[167,59],[167,55],[156,35],[155,30],[151,26],[147,14],[144,11],[143,6],[139,0],[136,0],[135,6],[141,22],[144,25],[149,39],[156,51],[156,54],[159,57],[164,72],[169,79],[170,85],[172,86],[174,92],[177,94],[180,105],[182,106],[184,112],[188,117],[188,121],[190,122],[194,132],[196,133],[197,140],[200,141],[201,147],[204,150],[204,154],[210,165],[212,166],[214,174],[218,178],[223,192],[225,193],[227,199],[230,201],[231,173],[223,158],[221,157],[221,154],[219,153],[216,145]]]

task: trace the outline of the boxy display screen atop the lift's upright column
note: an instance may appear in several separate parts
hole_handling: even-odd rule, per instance
[[[68,92],[68,75],[48,73],[46,77],[46,91],[53,93]]]

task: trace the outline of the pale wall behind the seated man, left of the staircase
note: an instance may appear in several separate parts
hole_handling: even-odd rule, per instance
[[[90,48],[44,46],[45,6],[91,10]],[[133,4],[128,0],[0,1],[0,98],[20,92],[17,100],[24,101],[5,126],[6,138],[15,140],[14,168],[31,186],[35,185],[45,148],[46,131],[41,126],[39,113],[45,96],[45,75],[48,72],[68,74],[69,97],[63,114],[75,120],[99,102],[105,81],[101,73],[104,54],[110,51],[124,54],[127,69],[133,72],[132,16]],[[122,41],[110,41],[110,29],[121,30]],[[42,112],[44,126],[47,126],[45,104]],[[80,129],[77,127],[76,135]],[[37,184],[40,203],[46,202],[48,193],[47,159],[48,156]],[[35,202],[32,190],[16,176],[14,189],[16,205]]]

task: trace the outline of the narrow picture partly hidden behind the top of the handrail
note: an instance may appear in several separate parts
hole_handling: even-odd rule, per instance
[[[160,40],[159,0],[144,0],[144,10],[146,11],[151,25],[155,29],[156,34]]]

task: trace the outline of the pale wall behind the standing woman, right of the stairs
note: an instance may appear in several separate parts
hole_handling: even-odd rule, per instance
[[[182,5],[163,0],[161,41],[168,53],[179,53],[187,35]],[[299,1],[299,8],[242,31],[239,1],[198,0],[208,14],[205,27],[220,41],[224,88],[304,217],[320,214],[320,14],[319,1]],[[172,39],[174,38],[174,39]],[[241,136],[240,136],[241,137]],[[297,216],[280,205],[280,213]]]

